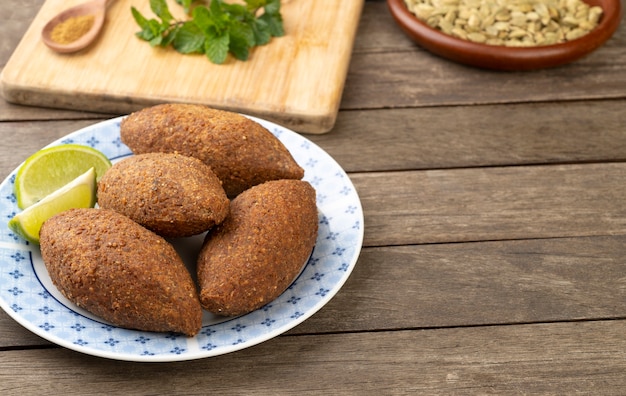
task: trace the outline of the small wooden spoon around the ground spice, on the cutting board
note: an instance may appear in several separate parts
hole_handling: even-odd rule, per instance
[[[100,30],[102,30],[107,5],[112,1],[113,0],[91,0],[87,3],[79,4],[59,13],[57,16],[52,18],[41,31],[41,38],[44,44],[52,50],[60,53],[76,52],[87,47],[96,39],[96,37],[98,37]],[[69,18],[84,15],[93,15],[95,18],[91,29],[89,29],[87,33],[71,43],[62,44],[52,40],[52,30],[56,25],[68,20]]]

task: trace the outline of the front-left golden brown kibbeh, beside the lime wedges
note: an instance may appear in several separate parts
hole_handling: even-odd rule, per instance
[[[193,336],[202,327],[195,284],[165,239],[106,209],[71,209],[41,227],[54,285],[116,326]]]

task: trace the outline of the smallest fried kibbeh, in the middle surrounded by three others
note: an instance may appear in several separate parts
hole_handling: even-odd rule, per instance
[[[215,173],[196,158],[147,153],[115,163],[98,183],[98,205],[165,237],[200,234],[228,215]]]

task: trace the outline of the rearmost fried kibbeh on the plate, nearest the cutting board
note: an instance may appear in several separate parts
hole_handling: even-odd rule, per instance
[[[161,104],[130,114],[120,126],[135,154],[180,153],[209,165],[233,198],[269,180],[302,179],[287,148],[240,114],[194,104]]]

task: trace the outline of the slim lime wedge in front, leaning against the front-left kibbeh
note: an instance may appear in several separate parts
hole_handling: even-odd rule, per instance
[[[13,216],[9,220],[9,228],[27,241],[38,244],[39,230],[44,221],[68,209],[94,207],[96,190],[96,171],[90,168],[70,183]]]

